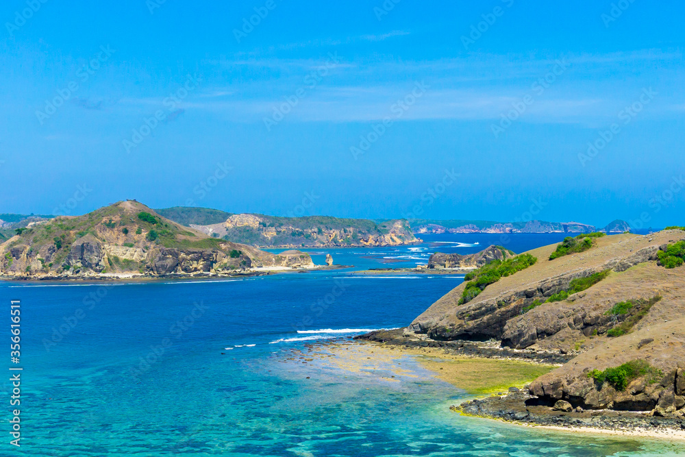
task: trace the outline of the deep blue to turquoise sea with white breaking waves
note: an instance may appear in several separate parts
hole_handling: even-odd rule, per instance
[[[354,269],[409,267],[433,251],[467,254],[494,243],[521,252],[563,236],[423,236],[412,247],[312,252],[320,253],[317,263],[331,252]],[[647,456],[684,447],[461,417],[448,407],[468,396],[444,382],[391,383],[284,363],[309,343],[406,325],[460,282],[345,269],[221,281],[0,283],[0,456]],[[21,300],[18,365],[10,362],[10,299]],[[8,422],[17,408],[8,368],[16,366],[23,368],[19,448],[9,444]],[[421,371],[410,358],[403,367]]]

